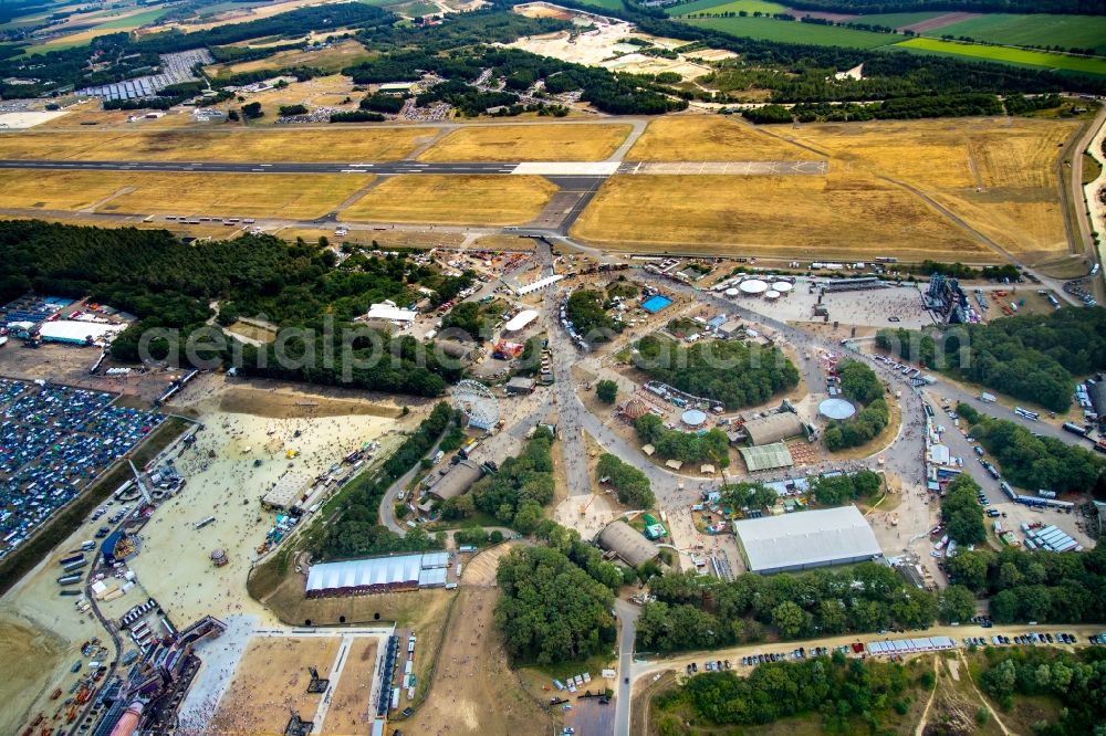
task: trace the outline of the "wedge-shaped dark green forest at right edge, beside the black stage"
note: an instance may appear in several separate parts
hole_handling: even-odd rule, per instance
[[[1074,377],[1106,368],[1106,308],[1064,307],[931,334],[885,329],[876,335],[876,346],[1015,399],[1066,411]]]

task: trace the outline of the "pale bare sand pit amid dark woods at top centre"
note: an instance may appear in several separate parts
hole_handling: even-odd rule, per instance
[[[596,28],[582,33],[560,31],[544,35],[525,36],[507,44],[513,49],[523,49],[531,53],[553,56],[554,59],[576,64],[603,66],[613,72],[630,72],[634,74],[676,72],[685,80],[693,80],[711,71],[710,66],[685,57],[682,54],[677,59],[660,59],[658,56],[637,53],[637,46],[624,43],[627,38],[641,39],[662,49],[677,49],[686,45],[687,42],[679,39],[661,39],[640,33],[633,23],[603,15],[571,11],[546,3],[517,6],[514,10],[532,18],[571,19],[574,22],[585,25],[595,24]],[[695,59],[709,59],[711,61],[719,61],[734,55],[728,51],[718,49],[700,50],[693,53]]]

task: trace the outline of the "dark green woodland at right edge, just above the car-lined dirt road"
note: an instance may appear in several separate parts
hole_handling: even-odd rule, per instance
[[[999,623],[1106,620],[1106,549],[1041,553],[1003,547],[962,551],[946,562],[949,577],[991,597]]]

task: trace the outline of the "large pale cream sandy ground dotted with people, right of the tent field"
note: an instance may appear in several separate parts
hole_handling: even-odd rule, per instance
[[[174,410],[198,413],[205,429],[176,461],[188,484],[154,513],[143,529],[143,551],[131,564],[146,590],[181,625],[206,613],[249,613],[263,623],[273,622],[273,616],[246,590],[255,548],[273,522],[273,515],[261,509],[260,496],[286,472],[313,477],[395,427],[392,419],[351,414],[328,404],[321,404],[314,418],[273,419],[275,408],[265,406],[267,397],[295,391],[257,390],[251,403],[243,390],[240,387],[228,400],[240,412],[255,413],[222,410],[218,388],[202,380],[178,395]],[[306,392],[300,397],[326,399]],[[324,410],[335,413],[326,416]],[[285,458],[291,449],[300,452],[295,460]],[[255,460],[261,460],[260,466],[254,466]],[[207,516],[217,521],[196,529],[195,523]],[[209,555],[217,548],[227,553],[225,567],[211,566]]]

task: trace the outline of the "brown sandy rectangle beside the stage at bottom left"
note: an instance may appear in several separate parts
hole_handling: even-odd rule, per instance
[[[326,677],[341,637],[254,637],[234,670],[210,728],[217,734],[280,734],[295,709],[311,721],[322,701],[309,694],[309,666]],[[330,733],[330,732],[327,732]]]

